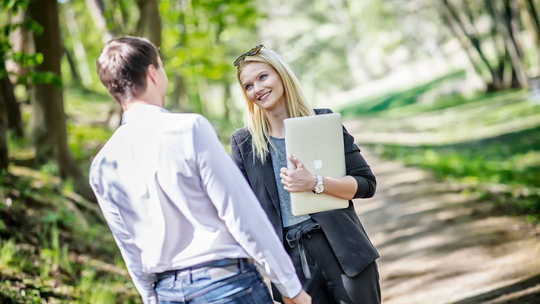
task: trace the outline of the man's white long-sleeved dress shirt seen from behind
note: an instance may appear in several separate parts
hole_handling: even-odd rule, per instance
[[[90,185],[144,303],[156,273],[253,258],[285,296],[300,281],[266,214],[199,114],[153,105],[124,112],[92,161]]]

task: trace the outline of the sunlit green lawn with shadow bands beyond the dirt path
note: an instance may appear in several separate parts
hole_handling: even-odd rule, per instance
[[[344,109],[362,145],[540,222],[540,106],[528,92],[441,94],[452,73]],[[431,97],[431,99],[429,99]],[[421,100],[421,102],[420,102]]]

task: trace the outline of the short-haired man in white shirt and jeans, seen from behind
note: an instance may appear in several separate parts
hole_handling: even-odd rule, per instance
[[[272,303],[247,258],[286,303],[311,303],[208,120],[163,108],[168,80],[156,47],[114,39],[97,70],[124,114],[92,161],[90,185],[144,303]]]

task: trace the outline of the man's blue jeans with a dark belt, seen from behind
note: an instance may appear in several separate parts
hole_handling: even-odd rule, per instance
[[[273,304],[257,268],[243,259],[159,274],[155,290],[159,304]]]

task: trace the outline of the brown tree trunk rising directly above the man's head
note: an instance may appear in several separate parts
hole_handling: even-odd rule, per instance
[[[158,48],[161,45],[161,18],[158,10],[158,0],[138,0],[139,22],[137,36],[145,37]]]

